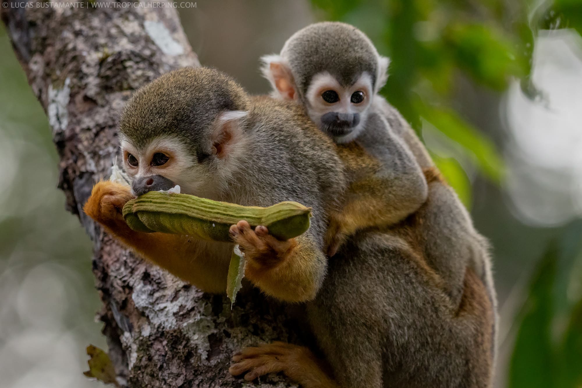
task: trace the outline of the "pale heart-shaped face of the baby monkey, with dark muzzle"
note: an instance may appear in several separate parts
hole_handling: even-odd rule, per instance
[[[342,86],[328,72],[318,73],[306,91],[307,114],[336,142],[350,142],[364,128],[373,90],[367,72],[349,86]]]

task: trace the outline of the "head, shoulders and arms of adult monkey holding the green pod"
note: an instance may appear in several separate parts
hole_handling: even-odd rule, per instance
[[[327,270],[326,215],[339,203],[343,175],[335,146],[299,107],[249,97],[217,70],[184,68],[133,95],[119,139],[134,194],[179,185],[182,193],[225,202],[311,207],[310,229],[289,241],[246,221],[232,234],[246,249],[245,277],[257,287],[283,301],[315,297]],[[130,198],[129,189],[100,182],[84,209],[144,258],[203,291],[224,292],[232,245],[130,230],[121,215]]]

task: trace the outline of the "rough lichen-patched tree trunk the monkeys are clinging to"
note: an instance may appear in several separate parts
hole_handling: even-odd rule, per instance
[[[94,241],[99,317],[120,385],[246,386],[228,375],[230,357],[244,345],[293,336],[281,306],[249,291],[231,311],[228,298],[204,294],[135,258],[81,211],[94,182],[109,176],[116,120],[132,90],[171,69],[198,65],[175,9],[93,4],[3,8],[2,19],[47,112],[66,206]],[[254,386],[289,384],[271,376]]]

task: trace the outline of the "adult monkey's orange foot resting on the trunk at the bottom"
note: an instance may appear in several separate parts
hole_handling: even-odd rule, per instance
[[[305,388],[336,388],[335,382],[324,371],[321,360],[308,348],[275,342],[258,347],[244,348],[233,355],[235,362],[229,368],[233,376],[244,375],[252,381],[267,373],[283,372]]]

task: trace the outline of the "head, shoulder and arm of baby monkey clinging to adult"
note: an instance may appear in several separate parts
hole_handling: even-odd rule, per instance
[[[307,115],[344,150],[349,190],[330,225],[329,254],[347,235],[402,221],[427,199],[423,171],[386,121],[377,100],[388,77],[381,57],[360,30],[315,23],[290,37],[280,55],[262,57],[272,95],[303,105]]]

